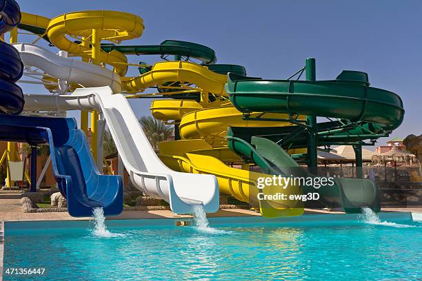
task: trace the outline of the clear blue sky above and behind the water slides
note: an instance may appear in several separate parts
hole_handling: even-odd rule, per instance
[[[143,18],[145,31],[123,43],[201,43],[217,52],[218,63],[243,65],[248,76],[286,79],[311,56],[317,79],[334,79],[341,70],[368,72],[372,86],[403,99],[405,120],[391,138],[422,133],[422,1],[23,0],[19,5],[45,17],[78,10],[132,12]],[[46,93],[32,85],[23,89]],[[131,105],[137,116],[150,114],[148,100]]]

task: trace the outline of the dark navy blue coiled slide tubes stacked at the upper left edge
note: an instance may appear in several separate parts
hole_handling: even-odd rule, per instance
[[[0,34],[16,27],[21,21],[19,5],[14,0],[0,0]],[[0,41],[0,113],[20,114],[25,103],[18,81],[23,73],[19,52]]]

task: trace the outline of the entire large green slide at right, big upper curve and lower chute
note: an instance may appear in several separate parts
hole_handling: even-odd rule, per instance
[[[310,176],[284,149],[307,147],[311,130],[316,146],[334,143],[359,146],[363,140],[388,136],[404,116],[401,98],[370,87],[364,72],[343,71],[331,81],[263,80],[228,74],[225,90],[245,120],[252,119],[250,112],[263,112],[259,119],[267,121],[275,121],[265,118],[269,112],[290,116],[285,121],[292,126],[233,127],[228,131],[229,147],[268,174]],[[299,115],[336,120],[310,126],[309,122],[299,120]],[[330,187],[302,188],[304,193],[317,191],[324,205],[341,206],[347,212],[360,212],[361,207],[380,209],[379,189],[371,180],[336,178],[335,185]]]

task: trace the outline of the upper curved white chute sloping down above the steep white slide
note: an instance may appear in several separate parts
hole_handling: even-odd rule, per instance
[[[120,76],[112,70],[75,59],[57,56],[46,48],[26,43],[12,44],[19,51],[25,66],[38,67],[46,74],[86,87],[109,86],[114,93],[121,92]]]

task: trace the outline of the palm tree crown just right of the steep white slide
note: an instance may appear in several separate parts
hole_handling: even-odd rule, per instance
[[[139,118],[139,123],[141,123],[143,132],[145,132],[145,135],[154,149],[158,148],[160,142],[167,141],[174,131],[170,125],[167,125],[163,121],[157,120],[152,116],[142,116]]]

